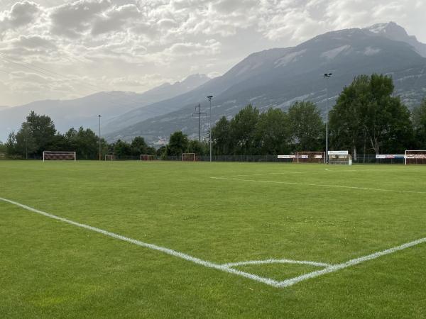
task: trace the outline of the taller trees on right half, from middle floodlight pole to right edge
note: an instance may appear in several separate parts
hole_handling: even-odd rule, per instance
[[[395,154],[426,149],[426,99],[410,113],[393,96],[391,77],[356,77],[329,112],[329,147],[351,154]],[[217,155],[278,155],[324,150],[325,126],[312,102],[296,102],[288,112],[260,113],[249,105],[212,130]]]

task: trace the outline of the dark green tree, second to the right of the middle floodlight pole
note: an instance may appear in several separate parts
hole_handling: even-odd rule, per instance
[[[251,104],[236,113],[229,123],[233,152],[236,155],[256,155],[259,150],[256,145],[256,125],[259,121],[259,111]]]

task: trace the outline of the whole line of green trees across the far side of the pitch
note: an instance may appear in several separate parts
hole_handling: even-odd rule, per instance
[[[310,101],[297,101],[288,111],[269,108],[261,112],[249,104],[232,118],[223,116],[212,128],[214,155],[284,155],[296,151],[324,151],[325,123]],[[361,75],[345,86],[329,111],[329,148],[357,154],[397,154],[426,149],[426,99],[412,112],[394,95],[391,77]],[[89,128],[70,128],[60,134],[49,116],[33,111],[17,133],[11,133],[0,153],[39,158],[43,150],[76,151],[80,159],[97,159],[99,137]],[[207,142],[190,140],[182,132],[170,135],[158,150],[143,137],[131,142],[101,139],[102,154],[118,159],[141,154],[180,156],[184,152],[209,155]]]

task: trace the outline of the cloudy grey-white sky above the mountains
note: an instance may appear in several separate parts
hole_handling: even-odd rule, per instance
[[[425,0],[0,0],[0,106],[142,92],[252,52],[395,21],[426,43]]]

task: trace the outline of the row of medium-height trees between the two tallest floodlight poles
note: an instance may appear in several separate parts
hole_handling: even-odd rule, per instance
[[[216,155],[277,155],[295,150],[323,150],[325,126],[309,101],[296,102],[288,112],[270,108],[261,113],[249,105],[212,129]]]

